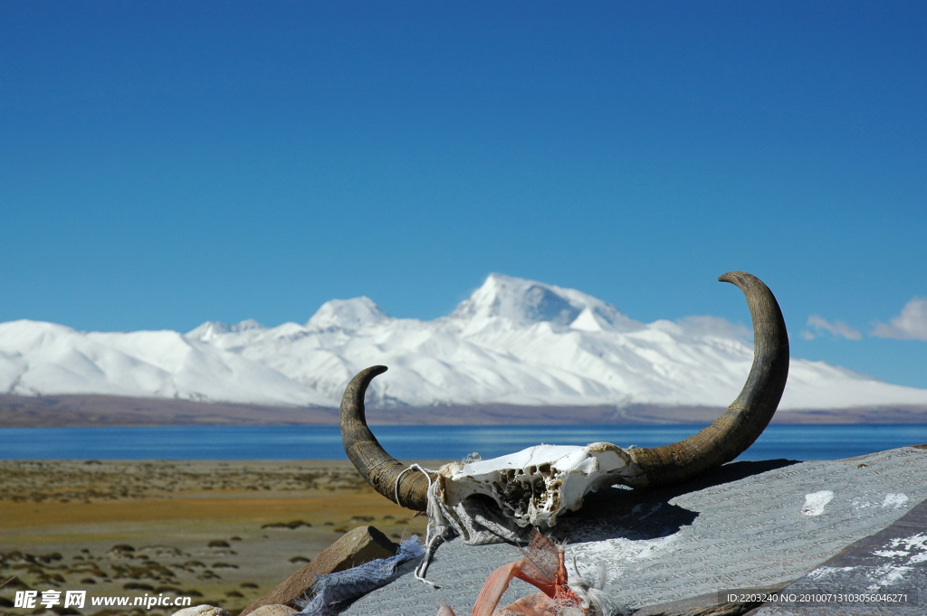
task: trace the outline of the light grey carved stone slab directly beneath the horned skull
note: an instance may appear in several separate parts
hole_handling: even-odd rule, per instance
[[[594,576],[603,562],[605,590],[639,610],[726,589],[781,588],[925,498],[927,450],[915,447],[833,461],[734,462],[674,488],[603,490],[563,517],[553,536],[568,542],[567,562],[575,558],[580,573]],[[428,571],[438,589],[406,574],[345,613],[434,616],[447,603],[468,614],[489,573],[519,558],[511,545],[455,540]],[[515,580],[501,605],[534,592]]]

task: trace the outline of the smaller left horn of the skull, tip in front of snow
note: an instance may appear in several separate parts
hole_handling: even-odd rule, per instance
[[[358,372],[348,383],[341,397],[341,441],[354,468],[377,492],[402,507],[425,511],[428,507],[427,477],[418,471],[402,473],[405,465],[387,454],[367,427],[363,395],[374,377],[386,371],[386,366],[373,366]],[[397,479],[400,480],[398,489]]]

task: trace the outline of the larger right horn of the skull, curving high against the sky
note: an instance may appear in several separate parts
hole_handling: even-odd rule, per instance
[[[653,449],[628,453],[647,473],[648,485],[691,479],[737,458],[753,445],[772,419],[789,376],[789,337],[775,296],[745,271],[729,271],[718,281],[733,283],[746,295],[754,326],[754,363],[741,395],[699,434]]]

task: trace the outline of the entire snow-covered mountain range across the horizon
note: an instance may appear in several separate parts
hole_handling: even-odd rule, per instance
[[[0,392],[337,406],[385,364],[378,405],[727,406],[753,361],[751,331],[714,317],[641,323],[573,289],[499,274],[450,315],[394,319],[334,299],[304,325],[206,322],[192,332],[81,333],[0,323]],[[927,404],[927,390],[793,359],[782,409]]]

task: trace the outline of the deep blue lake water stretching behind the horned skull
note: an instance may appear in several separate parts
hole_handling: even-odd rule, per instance
[[[528,446],[660,446],[704,426],[372,426],[399,459],[483,459]],[[739,459],[841,459],[927,443],[927,425],[771,425]],[[337,426],[0,428],[0,459],[347,459]]]

